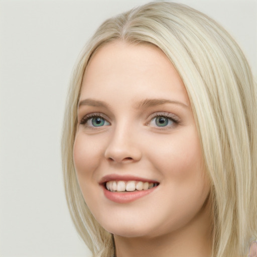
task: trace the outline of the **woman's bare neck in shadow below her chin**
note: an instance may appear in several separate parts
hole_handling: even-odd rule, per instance
[[[209,201],[208,201],[209,202]],[[212,248],[210,204],[184,227],[158,237],[114,235],[116,257],[209,257]]]

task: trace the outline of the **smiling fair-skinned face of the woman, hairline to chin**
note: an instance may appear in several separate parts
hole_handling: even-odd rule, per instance
[[[73,157],[87,206],[116,235],[182,229],[209,193],[185,86],[155,46],[114,42],[93,55]]]

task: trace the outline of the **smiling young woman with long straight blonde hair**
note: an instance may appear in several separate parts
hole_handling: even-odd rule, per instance
[[[74,70],[62,141],[93,256],[246,256],[256,96],[237,44],[196,10],[151,3],[104,22]]]

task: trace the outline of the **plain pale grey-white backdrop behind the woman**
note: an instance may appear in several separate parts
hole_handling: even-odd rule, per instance
[[[147,3],[0,1],[0,256],[90,256],[66,206],[60,135],[70,73],[110,16]],[[175,1],[217,20],[256,77],[256,1]]]

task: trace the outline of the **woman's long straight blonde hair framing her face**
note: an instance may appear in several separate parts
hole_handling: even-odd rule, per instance
[[[68,206],[93,256],[113,256],[112,235],[84,202],[73,165],[82,77],[108,42],[153,44],[170,59],[189,95],[211,180],[212,256],[244,256],[257,236],[256,86],[238,45],[216,22],[185,5],[150,3],[105,21],[74,69],[66,104],[62,160]]]

